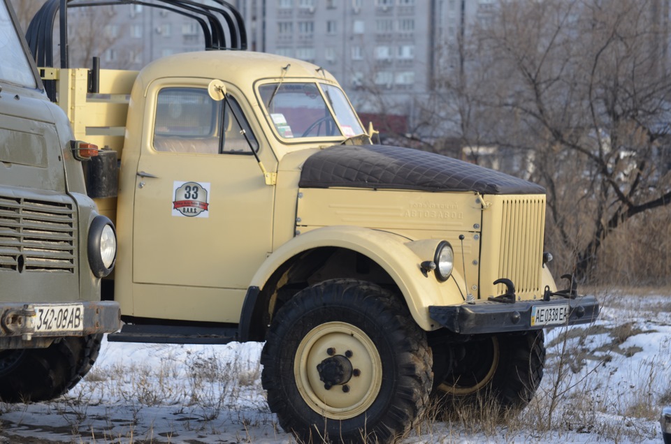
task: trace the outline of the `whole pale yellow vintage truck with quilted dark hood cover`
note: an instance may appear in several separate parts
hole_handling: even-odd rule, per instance
[[[207,50],[140,72],[54,68],[58,3],[29,42],[75,135],[105,147],[87,177],[119,237],[110,341],[266,341],[284,430],[386,442],[431,396],[526,405],[543,329],[598,315],[547,268],[544,188],[374,145],[333,76],[246,51],[223,1],[154,2],[210,17]]]

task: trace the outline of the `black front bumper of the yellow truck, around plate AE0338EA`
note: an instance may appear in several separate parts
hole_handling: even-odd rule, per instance
[[[569,316],[560,325],[531,325],[533,307],[568,304]],[[430,306],[429,316],[443,327],[459,334],[521,332],[545,327],[591,323],[599,314],[596,297],[579,296],[573,299],[551,297],[549,300],[524,300],[506,304],[478,301],[456,306]]]

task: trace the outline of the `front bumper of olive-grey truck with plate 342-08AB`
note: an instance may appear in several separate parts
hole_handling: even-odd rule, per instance
[[[85,336],[116,332],[120,327],[118,302],[0,303],[0,345],[6,345],[8,339]]]

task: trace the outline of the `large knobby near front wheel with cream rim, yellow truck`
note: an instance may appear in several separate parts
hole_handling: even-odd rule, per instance
[[[261,364],[270,410],[305,443],[389,442],[421,416],[433,384],[426,334],[405,304],[351,279],[284,304]]]

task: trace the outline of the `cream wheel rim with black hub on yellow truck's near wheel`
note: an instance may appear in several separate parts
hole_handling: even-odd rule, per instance
[[[366,411],[377,398],[382,360],[375,343],[361,329],[347,323],[324,323],[298,344],[294,380],[313,410],[346,420]]]

